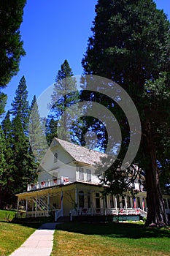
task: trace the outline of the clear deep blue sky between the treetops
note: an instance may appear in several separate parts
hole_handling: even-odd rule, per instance
[[[55,82],[58,69],[65,59],[74,75],[82,74],[81,60],[87,48],[90,28],[95,18],[97,0],[27,0],[20,26],[26,56],[20,71],[4,89],[11,108],[20,78],[24,75],[31,100]],[[155,0],[170,19],[170,1]]]

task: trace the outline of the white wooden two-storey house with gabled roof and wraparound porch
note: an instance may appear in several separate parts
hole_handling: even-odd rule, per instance
[[[105,154],[54,138],[38,167],[38,181],[28,184],[18,197],[18,214],[26,217],[75,215],[142,215],[147,214],[146,192],[138,183],[131,195],[102,197],[102,187],[96,175],[96,162]],[[164,196],[166,211],[170,213],[170,197]]]

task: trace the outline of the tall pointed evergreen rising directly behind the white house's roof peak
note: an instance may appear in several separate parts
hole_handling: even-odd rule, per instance
[[[48,138],[50,138],[50,134],[53,134],[63,140],[69,140],[70,138],[74,140],[74,127],[72,126],[74,113],[69,108],[79,102],[80,99],[76,79],[72,76],[72,69],[69,67],[68,61],[65,60],[56,76],[49,105],[52,114],[51,120],[48,121]],[[55,127],[58,128],[55,129]],[[55,131],[57,131],[57,134],[54,134]]]

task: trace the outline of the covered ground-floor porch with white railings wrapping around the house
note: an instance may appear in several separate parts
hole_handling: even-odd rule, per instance
[[[18,217],[147,216],[146,198],[101,194],[96,184],[74,182],[18,194]]]

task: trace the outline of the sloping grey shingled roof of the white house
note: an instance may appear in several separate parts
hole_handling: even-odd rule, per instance
[[[56,140],[77,162],[95,165],[96,162],[101,163],[102,158],[105,159],[108,157],[107,154],[88,149],[74,143],[69,143],[66,140],[61,140],[58,138],[54,138],[54,140]]]

